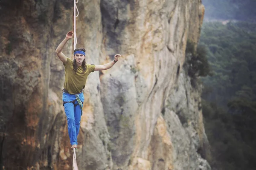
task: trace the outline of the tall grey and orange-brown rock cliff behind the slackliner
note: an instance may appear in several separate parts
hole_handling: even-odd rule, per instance
[[[201,0],[77,3],[77,47],[96,65],[84,89],[76,153],[82,170],[210,170],[200,88],[183,69],[198,42]],[[64,67],[54,51],[73,28],[70,0],[0,2],[1,166],[67,170]],[[72,57],[72,41],[64,53]]]

